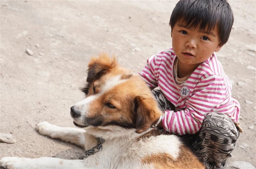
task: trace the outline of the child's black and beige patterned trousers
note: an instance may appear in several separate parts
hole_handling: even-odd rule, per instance
[[[162,111],[175,110],[160,90],[152,90]],[[226,114],[212,112],[205,116],[196,134],[179,136],[191,148],[205,168],[224,168],[236,145],[239,131]]]

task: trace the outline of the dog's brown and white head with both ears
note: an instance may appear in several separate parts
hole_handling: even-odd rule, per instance
[[[108,126],[143,132],[161,112],[150,89],[138,74],[124,69],[107,55],[92,58],[88,65],[86,98],[71,107],[78,127]]]

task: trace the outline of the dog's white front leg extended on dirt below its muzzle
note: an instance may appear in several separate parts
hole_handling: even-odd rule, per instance
[[[59,138],[63,141],[74,143],[84,148],[85,130],[73,127],[59,127],[48,122],[40,122],[36,125],[36,130],[45,136]]]

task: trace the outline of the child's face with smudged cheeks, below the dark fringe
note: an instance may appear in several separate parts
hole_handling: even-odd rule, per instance
[[[172,29],[171,37],[174,53],[186,65],[198,65],[221,48],[216,25],[207,34],[204,30],[199,32],[198,27],[187,28],[183,22],[177,22]]]

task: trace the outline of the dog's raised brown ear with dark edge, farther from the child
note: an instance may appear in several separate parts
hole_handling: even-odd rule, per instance
[[[117,61],[113,57],[112,59],[107,54],[101,54],[97,58],[92,58],[88,64],[88,75],[87,75],[87,85],[81,90],[87,95],[91,83],[99,79],[103,74],[111,71],[117,66]]]

